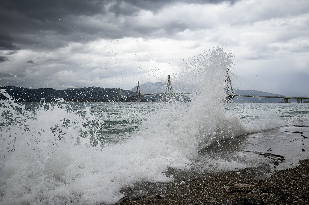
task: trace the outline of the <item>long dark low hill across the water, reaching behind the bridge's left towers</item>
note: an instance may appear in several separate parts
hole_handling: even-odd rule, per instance
[[[67,88],[65,90],[55,90],[52,88],[29,89],[15,86],[2,86],[0,89],[5,91],[15,100],[15,102],[55,102],[63,98],[66,102],[111,102],[119,98],[118,88],[102,87],[83,87]],[[120,102],[136,102],[136,91],[122,90]],[[133,96],[130,98],[125,98]],[[0,94],[0,99],[7,100],[4,95]],[[58,100],[57,100],[58,99]],[[163,95],[145,95],[141,96],[141,102],[167,102],[169,99]],[[187,96],[172,96],[173,101],[190,102]]]

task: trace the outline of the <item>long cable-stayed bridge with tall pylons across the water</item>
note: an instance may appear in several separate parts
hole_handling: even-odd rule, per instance
[[[235,77],[235,75],[233,76]],[[250,85],[250,83],[245,82],[247,80],[245,80],[244,78],[241,78],[240,76],[236,75],[236,78],[240,78],[235,80],[235,84],[237,88],[242,88],[243,89],[235,89],[235,85],[232,84],[232,80],[229,74],[229,71],[227,71],[226,73],[226,88],[225,88],[225,92],[226,92],[226,96],[225,99],[223,99],[223,102],[231,102],[233,98],[235,97],[251,97],[251,98],[280,98],[282,103],[290,103],[290,99],[296,99],[297,103],[303,103],[303,99],[309,99],[309,97],[292,97],[292,96],[285,96],[285,95],[280,95],[280,94],[274,94],[272,92],[265,92],[265,91],[258,91],[258,89],[263,90],[264,88],[259,88],[259,86],[254,85],[253,83],[251,83],[252,85]],[[233,78],[233,82],[234,82],[234,78]],[[245,89],[246,87],[248,87],[249,89]],[[251,88],[251,89],[250,89]],[[265,90],[265,89],[264,89]],[[171,100],[172,96],[174,95],[187,95],[187,94],[194,94],[194,93],[174,93],[173,92],[173,88],[171,85],[171,76],[168,75],[168,82],[167,82],[167,86],[166,86],[166,91],[165,92],[160,92],[160,93],[148,93],[148,94],[142,94],[141,92],[141,88],[138,82],[138,86],[136,89],[136,94],[132,95],[132,96],[123,96],[121,93],[121,89],[119,88],[118,91],[118,98],[113,100],[114,102],[132,102],[133,99],[135,102],[141,102],[141,97],[145,96],[145,95],[162,95],[165,96],[166,98],[168,98],[169,100]]]

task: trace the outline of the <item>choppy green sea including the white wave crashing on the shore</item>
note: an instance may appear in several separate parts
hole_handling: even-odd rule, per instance
[[[228,156],[244,137],[309,121],[309,103],[223,103],[229,67],[220,49],[188,62],[203,85],[191,102],[0,101],[0,204],[114,204],[127,187],[173,181],[167,170],[263,165]]]

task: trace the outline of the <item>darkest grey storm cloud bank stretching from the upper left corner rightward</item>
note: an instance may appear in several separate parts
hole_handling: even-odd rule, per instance
[[[166,1],[166,0],[10,0],[0,2],[0,50],[44,49],[64,47],[69,42],[94,41],[98,38],[166,37],[184,30],[181,23],[145,28],[125,17],[141,10],[156,13],[164,6],[182,3],[221,3],[224,0]],[[233,4],[235,1],[228,1]],[[112,16],[116,16],[116,18]],[[125,18],[119,19],[120,17]],[[95,20],[96,19],[96,20]],[[124,22],[123,22],[124,21]],[[161,36],[160,36],[161,35]]]

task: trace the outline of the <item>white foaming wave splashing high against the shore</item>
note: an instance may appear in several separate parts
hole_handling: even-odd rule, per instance
[[[123,197],[121,188],[171,181],[162,173],[167,168],[187,169],[208,144],[248,133],[220,105],[230,58],[222,48],[194,58],[186,69],[198,73],[201,89],[191,107],[167,103],[130,139],[113,145],[101,144],[91,132],[104,121],[89,108],[56,104],[31,113],[1,101],[0,203],[112,204]]]

